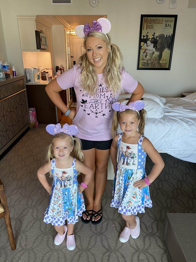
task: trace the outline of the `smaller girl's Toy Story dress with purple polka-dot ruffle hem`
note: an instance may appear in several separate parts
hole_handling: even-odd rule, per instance
[[[76,159],[73,159],[70,168],[56,168],[55,159],[51,160],[53,184],[50,201],[44,215],[44,222],[53,226],[67,223],[75,224],[78,216],[85,211],[83,194],[78,194],[78,171],[75,168]]]

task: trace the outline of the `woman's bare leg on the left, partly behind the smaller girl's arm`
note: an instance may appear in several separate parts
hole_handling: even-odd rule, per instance
[[[93,209],[93,203],[94,203],[94,188],[95,188],[95,180],[94,180],[94,173],[95,173],[95,148],[89,149],[89,150],[82,150],[84,154],[84,161],[83,163],[90,167],[93,170],[93,176],[88,184],[88,187],[84,189],[85,195],[87,197],[87,205],[86,210]],[[82,181],[84,180],[84,174],[82,175]],[[89,220],[90,217],[83,214],[83,218]]]

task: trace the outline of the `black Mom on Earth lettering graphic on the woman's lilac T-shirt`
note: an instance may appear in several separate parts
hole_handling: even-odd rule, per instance
[[[116,97],[107,86],[100,83],[93,95],[90,95],[82,88],[80,92],[83,92],[80,106],[85,114],[96,118],[109,117],[109,112],[112,110],[112,104],[116,102]]]

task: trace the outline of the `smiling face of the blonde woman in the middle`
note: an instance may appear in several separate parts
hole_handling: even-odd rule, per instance
[[[90,36],[85,43],[87,57],[97,74],[102,74],[107,64],[109,48],[101,38]]]

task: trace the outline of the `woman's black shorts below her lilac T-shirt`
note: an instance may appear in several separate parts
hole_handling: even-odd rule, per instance
[[[81,139],[82,143],[82,150],[89,150],[89,149],[100,149],[100,150],[107,150],[110,149],[111,144],[112,144],[112,139],[106,140],[106,141],[91,141],[91,140],[85,140]]]

